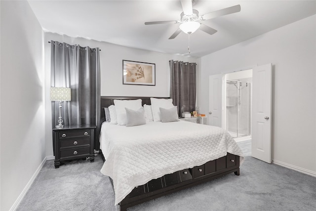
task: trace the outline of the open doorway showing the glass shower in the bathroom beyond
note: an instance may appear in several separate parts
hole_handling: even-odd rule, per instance
[[[251,139],[252,69],[225,74],[224,128],[236,141]]]

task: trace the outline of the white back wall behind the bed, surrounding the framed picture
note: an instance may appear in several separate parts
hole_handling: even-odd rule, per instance
[[[101,66],[101,96],[155,96],[169,97],[169,60],[181,60],[188,62],[197,62],[197,59],[181,56],[159,53],[148,50],[141,50],[108,42],[98,42],[83,38],[71,38],[65,35],[46,32],[45,41],[45,92],[46,102],[49,102],[50,87],[50,43],[48,41],[66,42],[69,44],[79,44],[81,46],[99,47],[100,66]],[[148,62],[156,64],[156,85],[123,85],[122,84],[122,60]],[[46,155],[52,155],[51,143],[51,111],[50,104],[46,105]]]

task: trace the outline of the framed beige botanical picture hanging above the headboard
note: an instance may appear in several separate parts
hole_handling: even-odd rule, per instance
[[[123,84],[156,85],[156,65],[123,60]]]

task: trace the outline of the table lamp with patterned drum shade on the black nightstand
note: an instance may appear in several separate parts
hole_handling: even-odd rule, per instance
[[[67,87],[50,87],[50,101],[59,101],[59,119],[56,128],[63,128],[61,117],[61,108],[63,101],[71,101],[71,89]]]

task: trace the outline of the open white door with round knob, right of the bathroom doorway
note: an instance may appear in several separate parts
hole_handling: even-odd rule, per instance
[[[271,164],[272,64],[252,70],[251,155]]]

